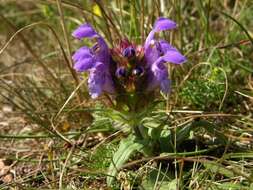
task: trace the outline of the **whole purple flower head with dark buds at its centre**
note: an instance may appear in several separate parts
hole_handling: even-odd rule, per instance
[[[165,63],[182,64],[186,58],[155,34],[176,28],[176,23],[159,18],[143,46],[122,40],[118,47],[109,48],[105,40],[89,25],[79,26],[73,36],[96,40],[93,47],[81,47],[73,55],[74,69],[89,71],[88,87],[92,98],[105,93],[151,92],[157,88],[168,93],[170,81]]]

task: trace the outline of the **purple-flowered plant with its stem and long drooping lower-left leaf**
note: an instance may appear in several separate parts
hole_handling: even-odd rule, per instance
[[[118,168],[135,151],[146,148],[144,153],[152,154],[155,145],[138,117],[144,117],[145,114],[138,113],[154,101],[156,89],[164,94],[169,93],[170,80],[166,63],[182,64],[186,61],[175,47],[156,38],[157,33],[176,26],[175,22],[167,18],[159,18],[143,45],[123,39],[118,46],[112,48],[89,24],[79,26],[72,34],[79,40],[91,38],[96,41],[93,47],[83,46],[73,55],[74,69],[77,72],[89,72],[88,88],[91,97],[97,98],[103,93],[110,95],[116,103],[114,109],[123,113],[122,117],[129,121],[128,125],[134,132],[122,140],[109,168],[110,176],[115,176]],[[112,179],[108,177],[109,185]]]

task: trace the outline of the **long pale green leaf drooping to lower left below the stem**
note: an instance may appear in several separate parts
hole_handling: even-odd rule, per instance
[[[137,141],[136,137],[130,135],[128,138],[123,139],[120,142],[119,149],[115,152],[113,160],[108,169],[107,184],[112,185],[114,178],[122,165],[133,155],[135,152],[144,148],[144,144],[141,141]]]

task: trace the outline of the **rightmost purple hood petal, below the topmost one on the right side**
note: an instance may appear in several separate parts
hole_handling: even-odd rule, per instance
[[[174,64],[182,64],[186,61],[186,58],[176,49],[167,50],[162,57],[165,62]]]

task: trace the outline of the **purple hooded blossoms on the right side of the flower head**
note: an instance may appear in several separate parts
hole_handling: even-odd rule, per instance
[[[148,76],[149,91],[160,86],[161,91],[167,94],[170,89],[170,81],[167,67],[164,64],[166,62],[182,64],[186,61],[186,58],[168,42],[154,38],[155,33],[174,28],[176,28],[175,22],[166,18],[159,18],[145,41],[145,58],[151,68]]]

